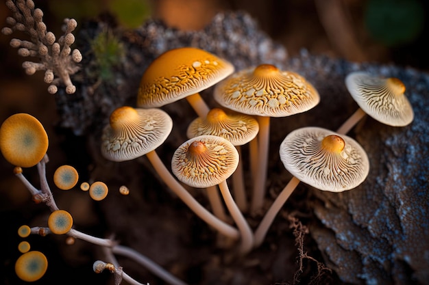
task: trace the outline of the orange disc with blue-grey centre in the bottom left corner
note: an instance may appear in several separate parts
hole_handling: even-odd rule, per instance
[[[45,275],[48,260],[45,254],[32,251],[21,255],[15,263],[15,273],[25,282],[34,282]]]

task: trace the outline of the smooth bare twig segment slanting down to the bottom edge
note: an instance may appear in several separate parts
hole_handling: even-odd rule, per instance
[[[125,256],[127,258],[134,260],[138,264],[143,265],[143,267],[151,271],[151,273],[154,273],[155,275],[160,277],[162,280],[164,280],[164,282],[167,282],[167,284],[186,285],[185,282],[177,279],[177,277],[171,275],[171,273],[169,273],[168,271],[160,267],[154,261],[150,260],[143,254],[140,254],[139,252],[136,252],[135,250],[130,249],[130,247],[125,247],[123,245],[115,245],[114,247],[112,247],[112,253]],[[136,283],[133,283],[133,284],[136,284]]]

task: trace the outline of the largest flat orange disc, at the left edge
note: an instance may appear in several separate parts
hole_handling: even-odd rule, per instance
[[[13,165],[36,165],[45,156],[48,144],[45,128],[27,113],[16,113],[1,124],[0,150]]]

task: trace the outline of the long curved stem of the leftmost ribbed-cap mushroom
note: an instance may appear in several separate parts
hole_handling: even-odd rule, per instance
[[[149,159],[150,163],[154,166],[155,171],[162,178],[162,180],[167,184],[167,186],[189,207],[191,210],[201,219],[206,221],[210,226],[224,234],[225,236],[229,236],[231,239],[238,239],[240,233],[236,228],[228,225],[224,221],[221,221],[217,217],[215,217],[212,213],[207,211],[206,208],[201,206],[193,196],[184,189],[184,187],[175,180],[173,175],[169,172],[167,167],[165,167],[164,163],[162,163],[158,154],[156,154],[155,150],[147,152],[147,159]]]

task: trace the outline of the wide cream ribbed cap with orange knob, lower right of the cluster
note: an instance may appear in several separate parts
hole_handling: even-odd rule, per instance
[[[362,183],[369,172],[365,150],[351,137],[324,128],[298,128],[280,145],[284,167],[320,190],[342,192]]]

